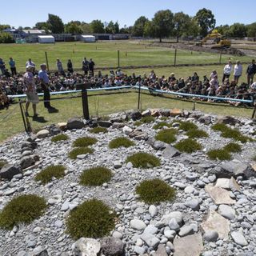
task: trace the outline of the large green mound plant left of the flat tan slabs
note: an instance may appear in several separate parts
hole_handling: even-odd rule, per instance
[[[172,201],[175,197],[175,189],[158,178],[141,182],[136,193],[148,204]]]

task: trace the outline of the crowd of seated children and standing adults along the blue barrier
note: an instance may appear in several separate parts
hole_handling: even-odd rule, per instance
[[[10,103],[8,95],[27,94],[27,108],[32,102],[34,115],[36,115],[36,106],[38,97],[28,96],[31,92],[34,95],[44,93],[45,106],[50,108],[50,91],[76,90],[76,86],[81,83],[90,83],[92,88],[106,88],[113,86],[146,86],[153,92],[154,90],[165,90],[182,93],[178,97],[187,97],[186,94],[194,94],[194,99],[217,102],[218,99],[204,98],[202,96],[216,96],[219,98],[237,98],[252,99],[256,94],[256,82],[254,82],[254,74],[256,74],[256,64],[252,60],[246,68],[246,82],[240,82],[242,76],[242,64],[237,61],[234,65],[229,60],[223,68],[223,74],[220,76],[216,70],[212,70],[209,76],[204,75],[199,78],[197,72],[194,72],[187,78],[176,78],[174,73],[169,77],[164,75],[158,76],[154,70],[150,74],[128,76],[121,69],[116,71],[110,70],[108,74],[102,74],[98,71],[94,74],[95,63],[90,58],[82,60],[82,73],[74,72],[73,64],[69,59],[66,69],[63,68],[59,58],[56,60],[57,72],[47,73],[46,64],[40,66],[41,70],[36,70],[36,65],[29,59],[26,62],[26,73],[21,74],[16,70],[13,58],[9,61],[11,73],[6,69],[6,63],[0,58],[0,107]],[[45,80],[45,81],[44,81]],[[32,85],[33,84],[33,85]],[[31,99],[32,98],[32,99]],[[228,101],[226,101],[228,102]],[[239,106],[242,102],[232,102],[230,104]]]

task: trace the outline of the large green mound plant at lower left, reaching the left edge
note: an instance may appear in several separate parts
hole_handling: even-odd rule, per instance
[[[0,227],[11,230],[14,226],[33,222],[46,210],[46,200],[35,194],[24,194],[12,199],[0,213]]]

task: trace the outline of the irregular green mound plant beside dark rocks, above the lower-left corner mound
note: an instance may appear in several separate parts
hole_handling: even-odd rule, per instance
[[[42,184],[46,184],[51,181],[51,179],[54,178],[62,178],[65,176],[65,166],[48,166],[46,169],[41,170],[40,173],[38,173],[35,176],[35,180],[37,182],[41,181]]]

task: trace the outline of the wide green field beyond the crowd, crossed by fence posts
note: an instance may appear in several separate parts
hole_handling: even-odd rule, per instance
[[[13,57],[18,71],[25,71],[28,58],[39,68],[46,62],[47,52],[50,70],[56,70],[56,58],[62,60],[63,67],[70,58],[75,69],[81,69],[82,59],[93,58],[96,67],[118,66],[118,50],[120,50],[120,66],[173,65],[174,49],[149,46],[147,42],[115,41],[115,42],[58,42],[55,44],[1,44],[1,58],[7,63]],[[206,64],[219,62],[219,54],[177,50],[177,64]],[[222,55],[222,63],[226,63],[231,55]],[[250,62],[250,57],[239,57],[242,62]],[[9,68],[9,65],[6,65]]]

